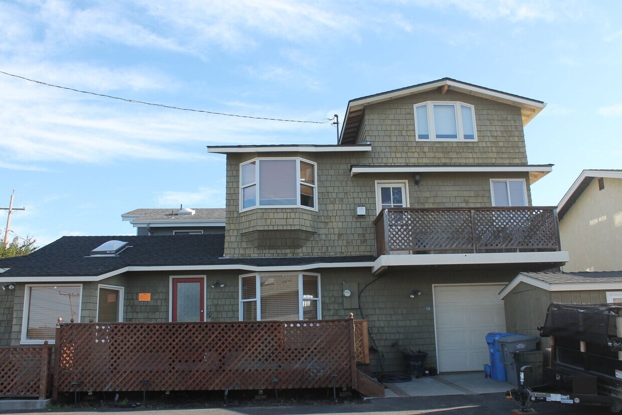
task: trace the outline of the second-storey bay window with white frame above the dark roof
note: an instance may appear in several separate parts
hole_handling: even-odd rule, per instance
[[[240,210],[317,209],[317,164],[299,158],[254,159],[240,166]]]

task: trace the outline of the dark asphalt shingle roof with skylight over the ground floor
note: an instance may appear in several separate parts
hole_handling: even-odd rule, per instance
[[[129,242],[118,256],[90,257],[95,249],[109,240]],[[314,263],[347,263],[374,261],[374,256],[315,256],[287,258],[222,258],[224,235],[162,236],[63,236],[14,259],[11,268],[1,273],[11,276],[98,276],[126,266],[248,265],[287,266]],[[0,261],[0,268],[2,261]]]

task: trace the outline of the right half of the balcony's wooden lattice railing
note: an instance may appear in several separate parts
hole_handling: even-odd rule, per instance
[[[478,250],[558,249],[556,228],[552,209],[475,211]]]

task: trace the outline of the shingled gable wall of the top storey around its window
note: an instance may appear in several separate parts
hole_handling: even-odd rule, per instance
[[[415,141],[415,103],[460,101],[475,106],[478,141]],[[438,90],[365,107],[357,142],[371,142],[373,164],[526,164],[518,106]]]

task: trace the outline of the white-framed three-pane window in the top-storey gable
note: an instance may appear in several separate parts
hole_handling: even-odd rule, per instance
[[[473,105],[427,101],[414,108],[417,141],[477,141]]]

